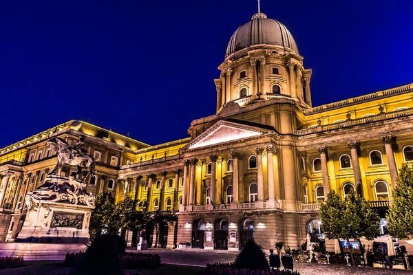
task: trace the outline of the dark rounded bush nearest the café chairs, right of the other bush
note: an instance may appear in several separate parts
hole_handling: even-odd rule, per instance
[[[234,267],[237,269],[247,268],[250,270],[269,270],[268,260],[264,249],[255,241],[247,241],[244,249],[235,258]]]

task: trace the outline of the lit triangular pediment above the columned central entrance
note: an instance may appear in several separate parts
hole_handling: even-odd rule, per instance
[[[191,150],[200,147],[213,146],[215,144],[264,135],[266,133],[269,133],[266,129],[221,120],[196,137],[195,140],[189,142],[189,144],[182,149]]]

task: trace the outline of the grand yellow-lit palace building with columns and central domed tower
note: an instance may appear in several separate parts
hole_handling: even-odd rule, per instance
[[[307,233],[324,238],[319,206],[330,190],[357,190],[384,218],[398,169],[413,162],[413,84],[313,107],[303,59],[286,26],[258,12],[233,33],[214,80],[216,113],[194,120],[190,137],[149,146],[72,120],[1,149],[0,240],[17,238],[25,195],[56,164],[52,136],[87,137],[97,163],[89,192],[178,214],[173,225],[147,225],[152,247],[240,250],[255,239],[296,248]],[[129,245],[136,236],[128,232]]]

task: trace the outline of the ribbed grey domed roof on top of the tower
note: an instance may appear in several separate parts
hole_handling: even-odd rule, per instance
[[[225,58],[234,52],[258,44],[289,47],[298,54],[297,44],[286,26],[258,12],[251,21],[242,25],[231,36]]]

